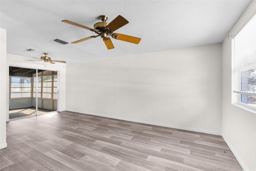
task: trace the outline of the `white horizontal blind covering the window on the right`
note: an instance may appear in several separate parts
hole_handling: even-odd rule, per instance
[[[234,37],[236,89],[256,96],[256,15]]]

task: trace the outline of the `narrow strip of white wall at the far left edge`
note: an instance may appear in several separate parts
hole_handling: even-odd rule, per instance
[[[6,29],[0,28],[0,149],[7,147],[6,143]]]

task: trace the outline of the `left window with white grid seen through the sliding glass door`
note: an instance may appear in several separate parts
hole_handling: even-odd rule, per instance
[[[31,78],[11,77],[11,98],[31,97]]]

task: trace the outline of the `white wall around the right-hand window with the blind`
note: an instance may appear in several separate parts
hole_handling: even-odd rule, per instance
[[[230,31],[234,36],[256,12],[252,1]],[[250,112],[232,105],[232,54],[231,39],[222,43],[222,136],[244,170],[256,170],[256,117]]]

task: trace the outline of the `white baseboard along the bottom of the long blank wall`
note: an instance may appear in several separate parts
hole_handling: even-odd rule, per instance
[[[210,130],[202,130],[202,129],[198,129],[198,128],[189,128],[189,127],[183,127],[183,126],[161,124],[161,123],[156,123],[156,122],[148,122],[148,121],[144,121],[144,120],[135,120],[135,119],[130,119],[130,118],[122,118],[122,117],[118,117],[118,116],[97,114],[97,113],[91,113],[91,112],[83,112],[83,111],[77,111],[77,110],[66,109],[66,111],[77,112],[77,113],[81,113],[81,114],[88,114],[88,115],[93,115],[93,116],[102,116],[102,117],[106,117],[106,118],[119,119],[119,120],[125,120],[125,121],[130,121],[130,122],[138,122],[138,123],[142,123],[142,124],[163,126],[163,127],[174,128],[174,129],[179,129],[179,130],[200,132],[200,133],[212,134],[212,135],[217,135],[217,136],[221,136],[222,135],[221,132],[210,131]]]

